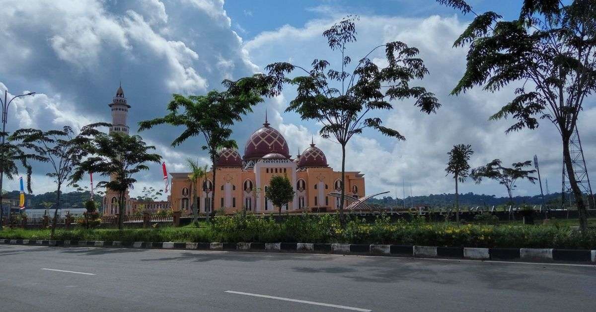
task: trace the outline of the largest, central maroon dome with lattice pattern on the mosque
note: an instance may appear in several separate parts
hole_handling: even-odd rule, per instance
[[[278,153],[286,158],[290,157],[290,149],[285,138],[279,131],[263,123],[263,127],[254,131],[244,146],[244,159],[263,157],[269,153]]]

